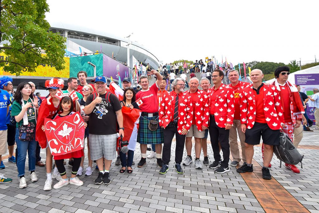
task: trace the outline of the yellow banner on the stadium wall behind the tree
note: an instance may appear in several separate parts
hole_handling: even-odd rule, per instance
[[[4,53],[0,53],[0,59],[6,60],[7,56]],[[35,68],[35,72],[22,71],[21,76],[43,76],[43,77],[61,77],[69,78],[70,77],[70,58],[64,57],[65,68],[63,70],[57,71],[53,65],[45,64],[39,65]],[[12,75],[10,72],[5,72],[3,67],[0,67],[0,75]]]

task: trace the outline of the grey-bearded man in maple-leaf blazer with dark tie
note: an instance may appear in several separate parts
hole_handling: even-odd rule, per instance
[[[183,174],[181,167],[185,136],[192,125],[193,106],[190,97],[184,92],[185,80],[176,78],[172,82],[172,91],[164,94],[159,109],[159,126],[163,128],[164,146],[162,151],[163,166],[160,174],[168,171],[171,158],[171,145],[174,135],[176,137],[175,169],[177,173]]]

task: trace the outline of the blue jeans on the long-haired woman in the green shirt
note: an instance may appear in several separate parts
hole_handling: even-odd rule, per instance
[[[17,167],[18,167],[18,177],[25,174],[26,167],[26,151],[28,151],[29,158],[29,171],[35,170],[35,150],[37,147],[37,142],[35,139],[32,141],[20,141],[19,140],[19,128],[16,129],[16,143],[18,149],[17,155]]]

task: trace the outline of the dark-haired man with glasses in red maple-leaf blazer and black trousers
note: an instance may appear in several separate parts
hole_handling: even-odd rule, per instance
[[[234,120],[234,90],[222,83],[224,72],[215,70],[212,73],[214,87],[208,90],[210,106],[209,135],[211,137],[211,147],[214,153],[214,162],[209,168],[215,169],[216,173],[222,174],[230,171],[229,163],[229,129]],[[220,143],[223,151],[223,161],[219,154]]]

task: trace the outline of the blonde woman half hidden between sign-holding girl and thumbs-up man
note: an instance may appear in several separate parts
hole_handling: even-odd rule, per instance
[[[92,94],[92,92],[93,92],[93,87],[90,84],[83,86],[82,94],[84,97],[79,101],[80,105],[81,105],[81,115],[82,115],[83,120],[87,123],[87,125],[89,124],[89,116],[84,113],[83,109],[85,107],[85,102],[86,102],[87,97],[89,97]],[[85,129],[84,139],[85,139],[85,137],[87,139],[87,158],[89,159],[89,165],[86,168],[85,176],[90,176],[90,175],[92,175],[92,172],[93,172],[93,170],[92,170],[93,160],[91,160],[91,156],[90,156],[89,127],[86,127],[86,129]],[[84,163],[84,156],[82,157],[80,168],[78,169],[77,176],[82,175],[83,163]]]

